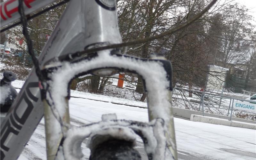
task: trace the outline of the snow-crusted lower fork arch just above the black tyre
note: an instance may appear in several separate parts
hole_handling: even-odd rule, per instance
[[[115,138],[117,136],[115,128],[121,128],[123,129],[123,132],[125,132],[125,134],[122,134],[124,136],[122,139],[124,140],[135,140],[135,133],[131,132],[131,129],[135,132],[142,133],[142,139],[144,138],[145,140],[145,151],[148,154],[149,160],[172,160],[171,153],[165,149],[166,139],[164,137],[163,125],[164,121],[162,119],[156,119],[150,123],[128,120],[109,120],[80,127],[73,126],[68,130],[64,140],[64,157],[66,159],[79,160],[83,157],[81,144],[85,138],[90,136],[90,134],[95,132],[105,132],[105,134],[109,134]]]

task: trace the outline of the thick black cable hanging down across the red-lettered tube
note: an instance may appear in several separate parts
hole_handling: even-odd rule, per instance
[[[26,42],[27,42],[27,45],[28,45],[28,53],[31,56],[32,61],[34,63],[34,66],[35,66],[35,69],[36,69],[36,76],[38,77],[39,81],[43,82],[45,78],[44,78],[44,76],[43,76],[43,74],[40,70],[39,62],[38,62],[38,60],[35,56],[35,53],[34,53],[34,50],[33,50],[32,40],[30,39],[30,37],[28,35],[28,29],[27,29],[28,21],[27,21],[26,15],[24,13],[23,0],[19,0],[18,9],[19,9],[19,13],[20,13],[20,21],[22,22],[22,26],[23,26],[22,27],[22,33],[25,36]]]

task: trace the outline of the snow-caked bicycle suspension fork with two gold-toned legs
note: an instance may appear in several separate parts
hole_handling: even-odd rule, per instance
[[[142,79],[144,81],[145,86],[145,92],[147,93],[148,97],[148,116],[149,116],[149,124],[140,125],[139,122],[134,122],[124,125],[122,123],[117,123],[116,120],[109,121],[104,126],[105,127],[113,127],[113,123],[115,124],[114,127],[128,127],[134,132],[138,132],[141,130],[144,130],[144,126],[149,125],[150,129],[148,129],[148,132],[152,132],[152,137],[148,136],[148,140],[152,139],[157,141],[156,144],[152,143],[152,148],[155,148],[154,151],[148,153],[149,157],[152,156],[153,160],[156,160],[159,155],[162,156],[161,159],[167,160],[167,159],[177,159],[177,150],[176,150],[176,141],[175,141],[175,132],[174,132],[174,123],[173,123],[173,116],[172,116],[172,106],[171,106],[171,91],[172,91],[172,66],[170,61],[162,59],[149,59],[144,60],[136,57],[131,57],[127,55],[122,55],[116,53],[117,50],[108,50],[108,51],[100,51],[99,53],[95,53],[92,55],[88,55],[87,57],[80,58],[78,60],[71,60],[69,62],[69,65],[62,66],[60,63],[59,66],[55,66],[53,68],[47,68],[48,71],[54,71],[50,72],[50,76],[53,77],[67,77],[67,81],[70,83],[71,80],[77,76],[83,76],[86,74],[92,74],[97,76],[110,76],[114,73],[118,72],[132,72],[136,73],[142,76]],[[66,59],[67,61],[67,59]],[[64,62],[67,63],[67,62]],[[52,67],[52,64],[49,66]],[[69,70],[69,71],[68,71]],[[70,72],[72,70],[72,72]],[[100,75],[100,73],[102,73]],[[104,74],[108,75],[104,75]],[[153,74],[153,75],[151,75]],[[161,81],[159,81],[161,79]],[[50,84],[60,84],[61,78],[55,78],[56,82],[49,81]],[[99,130],[95,130],[94,128],[90,128],[86,126],[79,127],[79,130],[81,128],[86,128],[85,130],[81,131],[84,132],[84,135],[81,135],[83,133],[72,133],[72,129],[69,127],[68,119],[69,119],[69,113],[68,113],[68,104],[67,104],[67,97],[61,97],[61,95],[58,95],[58,92],[53,91],[59,91],[61,93],[67,92],[66,95],[68,95],[68,84],[64,84],[63,87],[67,87],[66,89],[62,88],[59,90],[54,89],[54,86],[49,86],[47,88],[50,88],[46,95],[46,100],[48,101],[45,103],[45,125],[47,125],[46,128],[49,128],[49,130],[46,131],[46,134],[48,137],[47,139],[47,150],[49,150],[48,157],[51,157],[52,155],[58,155],[57,151],[61,148],[65,150],[61,151],[60,153],[70,153],[68,155],[75,155],[76,153],[73,153],[74,148],[78,147],[69,147],[69,145],[73,145],[72,143],[66,142],[66,145],[63,145],[61,140],[70,141],[70,139],[73,139],[74,141],[78,141],[75,144],[82,143],[82,138],[79,140],[76,139],[76,134],[78,134],[78,137],[88,137],[90,135],[89,133],[93,132],[100,132]],[[52,89],[52,90],[51,90]],[[55,98],[52,98],[51,95],[55,95]],[[57,97],[56,97],[57,96]],[[56,100],[61,100],[60,103],[58,103],[62,108],[59,108],[58,106],[55,106],[57,104]],[[62,101],[65,101],[62,102]],[[52,104],[52,105],[47,105]],[[59,111],[56,111],[56,109],[60,109]],[[58,110],[57,109],[57,110]],[[60,114],[59,114],[60,112]],[[62,112],[62,113],[61,113]],[[156,127],[157,119],[162,119],[162,129],[161,127]],[[118,121],[119,122],[119,121]],[[102,122],[105,123],[105,122]],[[101,124],[101,122],[99,122]],[[137,124],[137,128],[134,126],[134,124]],[[96,124],[92,124],[96,125]],[[55,129],[56,128],[56,129]],[[68,129],[68,131],[67,131]],[[100,128],[103,129],[103,128]],[[155,131],[159,132],[159,135],[162,134],[162,136],[157,135]],[[67,131],[67,132],[66,132]],[[88,133],[89,132],[89,133]],[[64,133],[64,134],[62,134]],[[144,135],[146,132],[141,132],[141,137],[147,137]],[[58,135],[58,136],[56,136]],[[64,139],[63,139],[64,136]],[[70,138],[71,137],[71,138]],[[165,137],[164,139],[161,139]],[[146,141],[148,141],[146,140]],[[52,147],[52,144],[57,144]],[[62,145],[62,146],[61,146]],[[148,144],[144,144],[145,147]],[[155,145],[155,146],[154,146]],[[159,147],[161,146],[162,147]],[[165,148],[168,148],[167,150],[169,153],[169,156],[167,158],[167,155],[165,155]],[[67,148],[71,149],[72,151],[69,151]],[[73,148],[73,149],[72,149]],[[163,152],[164,151],[164,152]],[[51,153],[51,154],[50,154]],[[159,154],[158,154],[159,153]],[[161,153],[161,154],[160,154]],[[47,152],[48,154],[48,152]],[[79,156],[78,156],[79,157]],[[76,156],[72,157],[77,158]],[[78,159],[78,158],[77,158]]]

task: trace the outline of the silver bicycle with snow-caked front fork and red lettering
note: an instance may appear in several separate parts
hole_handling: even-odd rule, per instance
[[[33,55],[32,42],[26,29],[27,19],[37,14],[28,18],[25,15],[54,0],[25,0],[26,10],[21,0],[17,2],[9,0],[1,4],[1,8],[6,8],[1,10],[1,25],[21,18],[23,34],[35,67],[1,122],[1,159],[18,158],[43,116],[48,160],[81,158],[79,147],[86,137],[90,137],[91,159],[104,159],[106,155],[99,153],[123,153],[124,150],[129,152],[118,154],[120,158],[127,158],[129,155],[140,158],[133,149],[136,134],[144,142],[148,159],[177,159],[171,105],[171,63],[155,54],[148,60],[120,54],[116,45],[121,42],[121,36],[117,27],[115,0],[71,0],[38,61]],[[54,7],[66,2],[68,1],[62,1]],[[11,10],[8,10],[8,5],[12,7]],[[39,13],[47,10],[50,9]],[[206,11],[207,9],[204,10]],[[16,24],[19,22],[11,27]],[[71,50],[67,44],[75,47]],[[74,48],[77,50],[75,53]],[[142,76],[148,97],[150,122],[117,120],[115,115],[103,115],[101,122],[71,127],[68,86],[72,79],[85,74],[109,76],[124,71]],[[60,76],[64,78],[61,79]],[[62,80],[65,80],[64,83]],[[114,149],[106,148],[106,143],[113,144]],[[119,150],[120,148],[123,150]]]

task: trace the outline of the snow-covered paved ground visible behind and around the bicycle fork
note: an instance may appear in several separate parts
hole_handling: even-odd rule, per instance
[[[72,92],[71,96],[95,98],[94,95]],[[98,99],[102,99],[99,96]],[[113,98],[106,97],[108,101]],[[134,102],[136,103],[136,102]],[[139,104],[138,104],[139,105]],[[118,119],[130,119],[147,122],[145,108],[129,107],[102,101],[71,98],[69,101],[71,124],[82,125],[101,120],[102,114],[116,113]],[[246,159],[256,158],[256,132],[252,129],[229,127],[223,125],[192,122],[174,119],[179,159]],[[44,140],[44,120],[40,122],[35,133],[22,152],[19,160],[46,159]],[[138,149],[142,148],[138,139]],[[82,144],[84,158],[88,159],[90,150]]]

